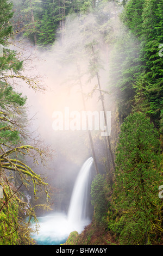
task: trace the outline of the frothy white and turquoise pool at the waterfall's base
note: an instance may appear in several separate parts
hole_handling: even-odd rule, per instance
[[[38,234],[33,234],[37,245],[60,245],[65,243],[70,233],[74,230],[80,234],[90,220],[83,220],[82,223],[70,223],[65,214],[60,212],[39,217]]]

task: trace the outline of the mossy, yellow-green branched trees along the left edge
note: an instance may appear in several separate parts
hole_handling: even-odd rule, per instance
[[[43,149],[34,145],[24,144],[28,138],[26,131],[26,97],[14,90],[16,83],[10,78],[21,78],[23,62],[16,56],[15,51],[7,48],[9,36],[14,32],[9,25],[13,13],[12,4],[0,1],[1,5],[1,57],[0,57],[0,245],[30,245],[33,240],[30,236],[32,228],[30,220],[37,221],[34,205],[27,204],[26,194],[29,187],[36,195],[39,187],[45,190],[47,185],[40,175],[36,174],[27,164],[26,157],[37,161],[43,159]],[[11,85],[10,85],[11,82]],[[34,152],[36,154],[34,154]],[[27,192],[28,193],[28,192]],[[37,205],[38,207],[41,205]],[[48,206],[43,205],[43,208]],[[28,221],[29,220],[29,221]]]

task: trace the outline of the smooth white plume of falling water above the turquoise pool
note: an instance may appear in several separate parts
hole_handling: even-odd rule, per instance
[[[80,227],[82,228],[88,221],[86,218],[86,204],[92,162],[93,158],[90,157],[83,164],[77,176],[71,196],[70,206],[68,209],[68,222],[73,225],[76,230]]]

